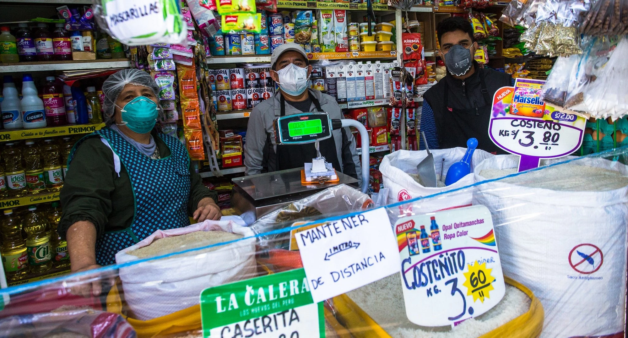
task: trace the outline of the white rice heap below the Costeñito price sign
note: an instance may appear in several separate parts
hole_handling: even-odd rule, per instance
[[[450,329],[449,327],[423,327],[408,320],[398,274],[362,286],[347,295],[382,329],[395,338],[479,337],[527,312],[531,301],[528,295],[506,284],[506,295],[494,308]]]

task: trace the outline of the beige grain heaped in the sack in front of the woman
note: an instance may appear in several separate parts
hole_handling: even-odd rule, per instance
[[[181,250],[200,248],[202,246],[208,246],[216,243],[223,243],[228,241],[234,241],[241,239],[242,235],[233,234],[226,231],[196,231],[184,234],[181,236],[163,237],[156,239],[149,246],[139,248],[133,251],[129,251],[128,254],[132,254],[138,258],[149,258],[154,256],[160,256],[162,254],[176,253]],[[214,251],[221,246],[215,246],[203,250],[203,253]],[[199,252],[200,253],[200,252]],[[193,254],[198,254],[194,252]]]

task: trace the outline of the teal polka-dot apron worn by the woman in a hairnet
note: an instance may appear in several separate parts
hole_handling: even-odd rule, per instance
[[[190,158],[178,139],[158,134],[170,148],[170,156],[153,160],[110,128],[95,131],[86,138],[94,136],[105,139],[114,155],[119,157],[129,173],[135,199],[135,215],[131,226],[121,231],[105,232],[96,240],[98,264],[116,263],[118,251],[138,243],[157,230],[190,225],[187,214],[191,185]],[[68,163],[72,161],[73,152]]]

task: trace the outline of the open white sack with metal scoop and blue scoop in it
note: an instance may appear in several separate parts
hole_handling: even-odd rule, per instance
[[[453,163],[462,160],[462,157],[467,152],[467,148],[450,148],[450,149],[436,149],[431,150],[434,156],[434,166],[436,168],[436,177],[440,176],[441,166],[443,166],[443,176],[447,176],[447,170]],[[478,165],[486,158],[490,158],[494,155],[487,153],[484,150],[476,149],[471,160],[471,173],[463,178],[460,178],[458,182],[453,183],[448,187],[440,188],[428,188],[423,187],[420,183],[414,180],[413,175],[416,175],[416,165],[418,165],[424,158],[428,156],[427,151],[408,151],[398,150],[393,153],[384,156],[381,165],[379,165],[379,171],[382,172],[382,178],[384,179],[384,187],[389,188],[388,203],[400,202],[403,200],[414,199],[416,197],[423,197],[447,190],[465,187],[473,183],[474,166]],[[443,158],[445,163],[443,165]],[[443,178],[441,181],[445,181]],[[471,194],[456,194],[449,197],[446,201],[434,200],[424,201],[422,206],[425,205],[425,212],[431,212],[435,210],[447,209],[451,207],[462,207],[464,205],[471,204]],[[431,210],[427,210],[431,209]],[[422,211],[423,212],[423,211]]]

